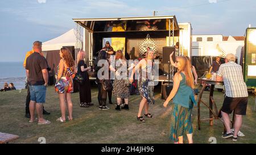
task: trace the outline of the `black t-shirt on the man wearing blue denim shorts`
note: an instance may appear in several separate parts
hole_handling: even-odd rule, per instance
[[[29,84],[30,85],[44,85],[44,78],[42,69],[47,69],[47,61],[40,53],[34,52],[27,57],[26,69],[29,70]]]

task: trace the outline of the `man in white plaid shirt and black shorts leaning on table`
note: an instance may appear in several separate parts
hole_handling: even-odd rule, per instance
[[[242,66],[236,64],[236,56],[232,53],[226,55],[225,64],[218,69],[217,81],[224,81],[225,99],[221,108],[221,115],[226,127],[226,133],[222,138],[233,137],[237,141],[237,133],[242,126],[242,115],[246,115],[248,92],[246,83],[243,81]],[[229,114],[234,111],[234,133],[230,129]]]

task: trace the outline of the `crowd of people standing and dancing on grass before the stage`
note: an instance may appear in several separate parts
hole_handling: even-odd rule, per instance
[[[189,57],[177,56],[174,62],[174,60],[172,60],[173,54],[174,53],[171,53],[170,55],[170,62],[177,68],[177,72],[173,78],[173,89],[163,103],[164,107],[167,107],[171,100],[173,103],[170,140],[174,141],[174,143],[183,143],[183,136],[186,134],[188,143],[193,143],[191,116],[193,106],[196,104],[194,89],[195,84],[197,83],[197,74],[195,67],[191,65]],[[155,103],[155,68],[154,51],[152,49],[148,49],[145,57],[140,61],[133,61],[133,63],[130,63],[123,56],[121,50],[114,52],[107,41],[106,46],[98,53],[98,57],[96,61],[94,61],[93,66],[85,64],[86,53],[84,51],[79,51],[77,62],[73,61],[73,57],[68,48],[61,48],[59,55],[60,62],[57,66],[55,90],[59,94],[61,116],[60,118],[57,118],[56,121],[62,123],[66,122],[66,107],[68,109],[68,120],[73,120],[71,93],[73,92],[73,78],[78,75],[82,79],[79,82],[80,107],[89,107],[93,105],[88,76],[89,70],[93,70],[96,74],[99,110],[109,110],[106,100],[107,96],[109,96],[109,103],[112,104],[112,94],[117,98],[117,106],[115,107],[115,110],[129,110],[129,86],[135,79],[137,79],[139,93],[141,94],[137,120],[139,122],[146,122],[145,118],[154,118],[154,115],[150,114],[149,111],[149,105]],[[77,66],[77,68],[75,66]],[[227,132],[224,133],[222,137],[233,137],[233,140],[237,140],[237,132],[242,124],[242,115],[246,114],[248,96],[246,85],[245,82],[243,82],[241,66],[234,62],[234,55],[227,55],[226,64],[218,66],[220,69],[217,72],[217,80],[223,80],[226,89],[221,114]],[[27,54],[24,60],[24,67],[26,68],[29,83],[29,98],[27,97],[26,102],[26,116],[30,118],[29,122],[35,122],[36,119],[34,113],[36,110],[38,114],[38,124],[49,124],[51,122],[43,118],[43,113],[45,111],[43,109],[43,103],[46,102],[46,89],[48,83],[48,64],[46,58],[42,55],[42,42],[34,42],[33,50]],[[112,73],[114,73],[114,79],[112,79]],[[122,103],[125,103],[123,107],[121,107]],[[236,112],[234,133],[230,131],[228,118],[228,114],[233,110]],[[48,113],[46,112],[47,111],[45,111],[44,114]]]

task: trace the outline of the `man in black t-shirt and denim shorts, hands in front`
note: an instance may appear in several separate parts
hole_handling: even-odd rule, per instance
[[[49,120],[43,118],[43,103],[46,102],[46,86],[48,83],[48,65],[42,52],[42,42],[33,43],[34,53],[27,57],[26,74],[30,85],[30,121],[35,121],[35,108],[38,113],[38,124],[49,124]]]

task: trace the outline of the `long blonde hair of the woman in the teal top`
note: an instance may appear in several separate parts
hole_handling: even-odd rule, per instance
[[[194,86],[193,75],[191,72],[191,63],[184,56],[178,56],[176,57],[176,60],[179,60],[180,62],[180,68],[178,68],[179,69],[178,73],[180,74],[183,71],[186,77],[186,85],[194,89],[195,86]]]

